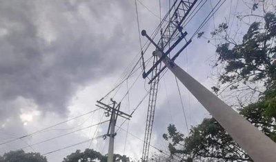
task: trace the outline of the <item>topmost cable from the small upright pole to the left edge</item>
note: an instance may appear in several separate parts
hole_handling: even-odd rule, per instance
[[[86,114],[90,114],[90,113],[95,112],[95,111],[100,110],[100,109],[101,109],[101,108],[98,108],[98,109],[96,109],[96,110],[92,110],[92,111],[90,111],[90,112],[86,112],[85,114],[81,114],[81,115],[79,115],[79,116],[77,116],[77,117],[74,117],[74,118],[72,118],[72,119],[68,119],[68,120],[66,120],[66,121],[62,121],[62,122],[57,123],[57,124],[55,124],[55,125],[51,125],[51,126],[49,126],[49,127],[47,127],[47,128],[43,128],[43,129],[41,129],[41,130],[37,130],[36,132],[32,132],[32,133],[30,133],[30,134],[26,134],[26,135],[24,135],[24,136],[20,136],[20,137],[18,137],[18,138],[16,138],[16,139],[12,139],[12,140],[10,140],[10,141],[6,141],[6,142],[3,142],[3,143],[0,143],[0,145],[4,145],[4,144],[6,144],[6,143],[10,143],[10,142],[16,141],[16,140],[18,140],[18,139],[23,139],[23,138],[26,138],[27,136],[32,136],[32,135],[37,134],[37,133],[39,133],[39,132],[43,132],[44,130],[48,130],[48,129],[50,129],[50,128],[53,128],[53,127],[55,127],[55,126],[57,126],[57,125],[61,125],[61,124],[63,124],[63,123],[67,123],[68,121],[72,121],[72,120],[77,119],[77,118],[79,118],[79,117],[83,117],[83,116],[86,115]]]

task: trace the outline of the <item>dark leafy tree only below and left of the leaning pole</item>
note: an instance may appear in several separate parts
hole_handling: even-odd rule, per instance
[[[176,130],[176,129],[175,129]],[[172,143],[169,144],[171,154],[186,154],[188,159],[199,161],[210,161],[224,159],[227,161],[251,159],[243,152],[239,145],[233,141],[224,128],[215,119],[204,119],[204,121],[190,130],[190,136],[183,141],[175,141],[179,136],[184,136],[177,131],[171,131],[168,127],[168,136]],[[191,161],[191,160],[190,160]]]

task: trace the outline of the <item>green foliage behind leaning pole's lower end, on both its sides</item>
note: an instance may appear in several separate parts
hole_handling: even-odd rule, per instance
[[[276,142],[276,86],[266,90],[257,102],[239,109],[239,113]],[[171,141],[171,154],[186,154],[199,161],[252,161],[213,118],[191,128],[186,138],[170,124],[163,137]]]

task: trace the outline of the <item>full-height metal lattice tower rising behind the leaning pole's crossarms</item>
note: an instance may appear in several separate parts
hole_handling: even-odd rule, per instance
[[[157,43],[153,41],[148,35],[146,31],[143,30],[141,34],[146,36],[148,40],[155,45],[156,50],[159,50],[163,53],[163,57],[166,57],[183,39],[185,39],[187,32],[183,32],[184,21],[190,12],[190,10],[195,6],[197,0],[176,0],[174,1],[172,7],[161,21],[160,26],[164,26],[165,28],[161,28],[161,38]],[[171,44],[170,44],[171,43]],[[190,43],[190,41],[186,41],[185,45],[172,57],[172,61],[178,57],[180,52],[186,48],[186,46]],[[143,57],[143,54],[142,54]],[[144,146],[143,146],[143,154],[142,161],[148,162],[148,153],[150,148],[150,139],[152,134],[152,125],[155,117],[155,105],[157,100],[157,92],[159,85],[159,76],[161,72],[164,71],[166,65],[161,68],[161,60],[163,58],[158,59],[157,56],[154,55],[154,61],[152,68],[148,70],[148,72],[143,73],[143,78],[146,79],[148,75],[151,73],[151,78],[149,81],[150,84],[150,97],[148,101],[148,114],[146,119],[146,131],[144,136]]]

